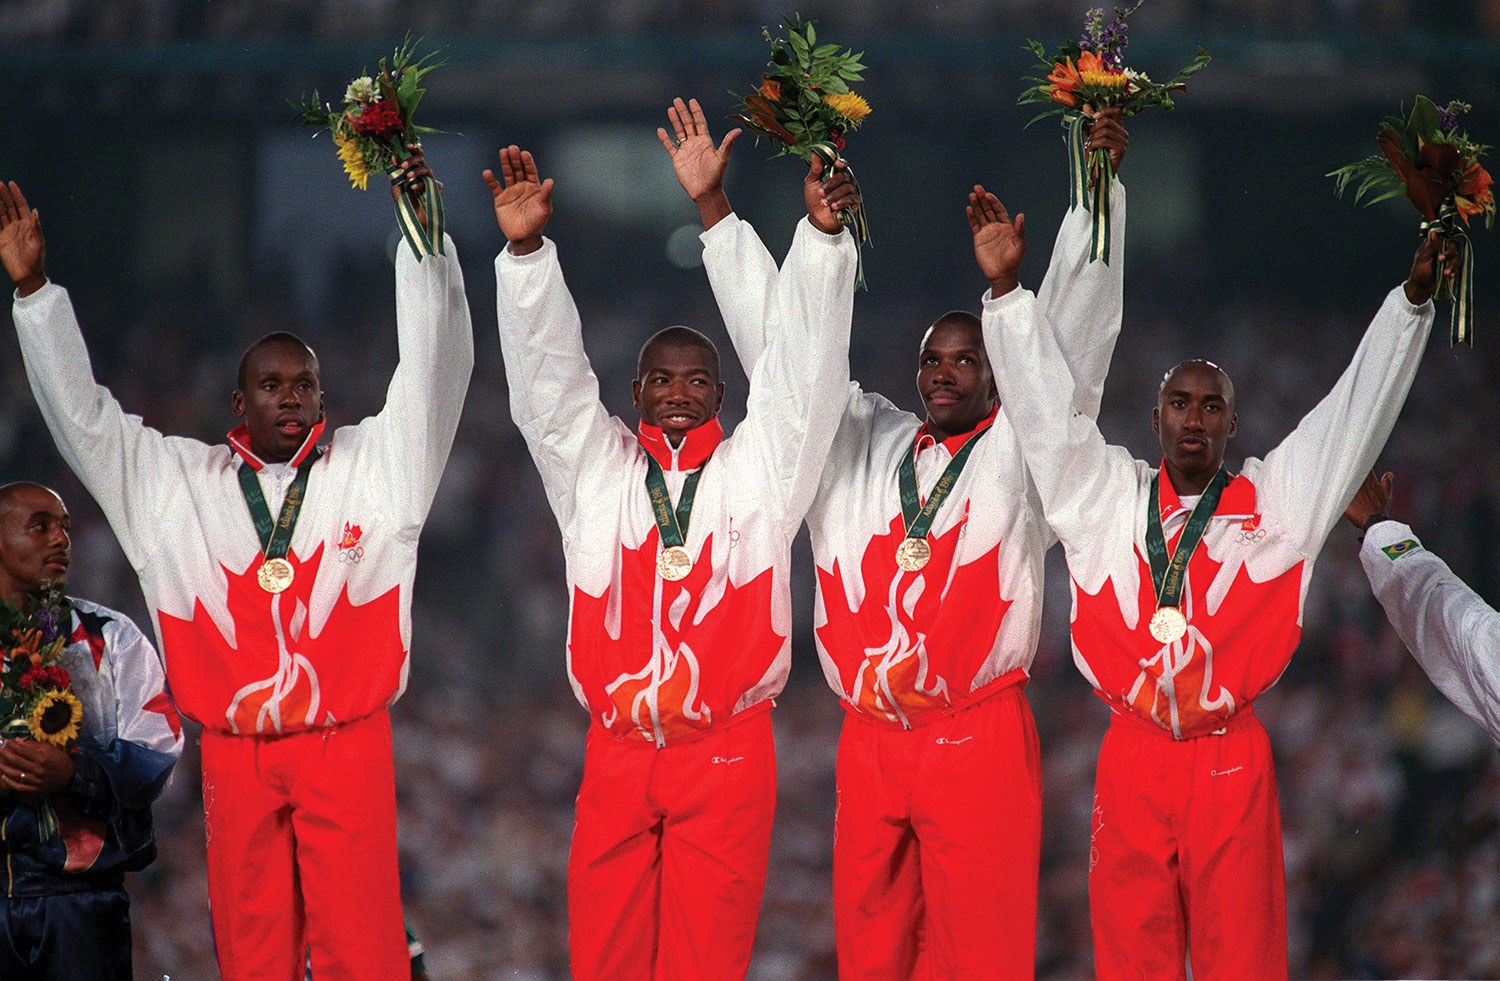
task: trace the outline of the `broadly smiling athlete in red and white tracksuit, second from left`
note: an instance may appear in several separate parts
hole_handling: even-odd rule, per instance
[[[556,246],[550,180],[530,153],[489,174],[510,246],[495,260],[510,406],[567,556],[568,680],[588,748],[568,861],[574,978],[744,976],[765,880],[776,759],[771,699],[790,658],[790,546],[848,382],[855,249],[798,225],[746,420],[717,422],[717,356],[672,327],[634,381],[640,426],[598,400]],[[837,230],[837,224],[832,225]],[[705,350],[704,345],[708,345]],[[658,574],[656,460],[682,504],[684,579]]]

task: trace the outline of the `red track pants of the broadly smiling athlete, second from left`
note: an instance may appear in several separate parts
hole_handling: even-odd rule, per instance
[[[771,714],[748,711],[662,750],[590,728],[567,874],[576,981],[746,976],[776,810]]]

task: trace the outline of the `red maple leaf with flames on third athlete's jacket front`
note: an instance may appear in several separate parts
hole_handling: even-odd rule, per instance
[[[843,570],[818,570],[826,622],[818,640],[838,669],[846,699],[878,718],[914,723],[968,694],[988,658],[1011,602],[1000,597],[999,549],[954,566],[964,522],[928,538],[921,570],[902,572],[896,548],[906,537],[900,514],[870,538],[860,561],[864,598],[850,609]],[[933,658],[940,657],[934,664]]]

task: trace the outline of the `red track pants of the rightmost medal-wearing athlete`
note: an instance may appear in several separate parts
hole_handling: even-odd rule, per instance
[[[1281,818],[1266,728],[1176,741],[1116,714],[1100,748],[1089,849],[1100,978],[1287,976]]]

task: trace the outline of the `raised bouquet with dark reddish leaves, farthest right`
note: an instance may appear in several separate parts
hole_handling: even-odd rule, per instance
[[[1380,153],[1328,174],[1334,194],[1354,189],[1354,204],[1376,204],[1398,194],[1422,214],[1422,234],[1434,228],[1458,246],[1458,270],[1452,280],[1440,276],[1437,296],[1452,300],[1450,342],[1473,346],[1474,255],[1468,244],[1468,219],[1482,214],[1485,228],[1496,220],[1496,196],[1490,171],[1479,158],[1490,147],[1458,129],[1458,117],[1472,106],[1449,102],[1438,108],[1418,96],[1412,112],[1388,116],[1376,142]]]

